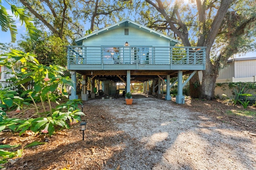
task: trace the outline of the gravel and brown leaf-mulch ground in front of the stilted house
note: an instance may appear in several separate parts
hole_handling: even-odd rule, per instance
[[[256,116],[230,112],[244,110],[241,107],[195,99],[178,105],[139,94],[133,99],[132,105],[126,105],[124,97],[84,101],[84,140],[79,123],[52,137],[1,132],[1,144],[22,148],[35,140],[46,142],[25,148],[22,158],[10,160],[4,169],[256,169]]]

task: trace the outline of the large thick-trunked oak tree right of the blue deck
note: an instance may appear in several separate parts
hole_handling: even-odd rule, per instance
[[[214,99],[218,71],[228,58],[242,50],[251,49],[255,37],[255,1],[248,0],[191,0],[173,6],[161,0],[146,0],[158,15],[150,16],[148,26],[158,30],[172,30],[184,46],[206,48],[206,70],[202,71],[202,84],[198,74],[190,80],[192,97]],[[244,4],[250,4],[244,5]],[[252,37],[248,38],[248,35]],[[193,93],[194,92],[194,93]]]

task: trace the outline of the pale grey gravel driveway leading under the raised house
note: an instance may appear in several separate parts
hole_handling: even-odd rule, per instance
[[[173,101],[134,95],[94,100],[126,135],[105,170],[254,170],[256,137]],[[90,103],[90,101],[88,101]]]

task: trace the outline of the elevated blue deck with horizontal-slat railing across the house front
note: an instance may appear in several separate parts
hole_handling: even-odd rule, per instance
[[[204,70],[206,64],[205,47],[68,46],[67,53],[68,69],[82,74],[126,70],[159,74]]]

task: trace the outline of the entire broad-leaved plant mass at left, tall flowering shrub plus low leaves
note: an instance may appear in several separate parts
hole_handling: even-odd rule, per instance
[[[82,104],[79,100],[68,100],[56,109],[66,109],[64,112],[54,111],[51,107],[51,101],[56,102],[58,95],[68,97],[66,92],[66,85],[72,86],[73,83],[70,77],[63,77],[66,69],[60,65],[42,65],[36,59],[36,56],[30,53],[24,53],[18,50],[12,50],[10,53],[3,54],[7,58],[1,58],[1,64],[6,65],[12,70],[14,78],[12,78],[14,85],[20,85],[23,92],[21,95],[28,96],[28,99],[23,99],[15,91],[10,90],[10,87],[0,90],[0,107],[10,109],[17,107],[16,112],[19,113],[23,104],[29,105],[34,103],[36,114],[38,115],[38,103],[42,104],[44,115],[46,117],[30,118],[30,119],[16,119],[8,118],[6,113],[1,110],[0,115],[0,131],[9,128],[13,132],[19,132],[22,135],[26,130],[33,132],[48,133],[51,136],[57,129],[70,128],[80,121],[80,116],[84,113],[80,112],[78,105]],[[18,71],[14,69],[19,63]],[[34,87],[27,89],[24,85],[28,82],[33,82]],[[44,108],[44,102],[47,101],[50,111]],[[31,105],[30,105],[31,107]],[[23,111],[23,110],[22,110]]]

